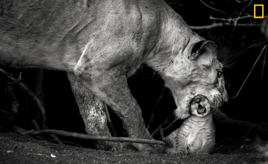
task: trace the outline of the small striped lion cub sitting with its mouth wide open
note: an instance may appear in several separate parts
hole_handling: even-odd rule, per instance
[[[164,138],[172,147],[166,153],[186,155],[209,153],[215,145],[215,126],[210,105],[203,96],[195,97],[191,103],[192,115],[183,124]]]

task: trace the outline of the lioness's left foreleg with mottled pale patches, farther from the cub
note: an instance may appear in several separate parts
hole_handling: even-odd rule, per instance
[[[75,100],[85,123],[86,132],[95,136],[111,136],[107,126],[104,103],[98,99],[79,78],[67,73]],[[97,149],[121,150],[120,142],[94,141]]]

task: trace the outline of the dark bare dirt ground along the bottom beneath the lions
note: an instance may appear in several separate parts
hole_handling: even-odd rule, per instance
[[[175,156],[128,151],[98,151],[58,145],[13,132],[0,133],[0,163],[264,163],[251,141],[217,144],[213,154]],[[51,157],[51,154],[56,157]],[[52,156],[53,156],[52,155]]]

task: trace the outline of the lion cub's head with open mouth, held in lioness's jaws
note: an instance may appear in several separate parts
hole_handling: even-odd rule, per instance
[[[191,102],[191,115],[205,117],[210,113],[211,106],[204,96],[197,95]]]

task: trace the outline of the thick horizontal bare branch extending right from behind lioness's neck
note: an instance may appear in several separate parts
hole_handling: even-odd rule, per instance
[[[261,24],[232,24],[232,23],[215,23],[207,26],[190,26],[192,30],[207,30],[217,27],[234,26],[234,27],[260,27]]]

